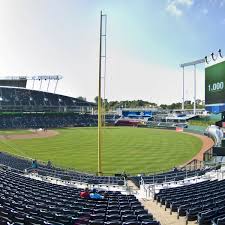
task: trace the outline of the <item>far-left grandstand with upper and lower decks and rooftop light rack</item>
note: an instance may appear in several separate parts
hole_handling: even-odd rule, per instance
[[[27,89],[28,79],[36,82],[42,82],[42,80],[50,82],[54,79],[58,81],[61,77],[1,78],[0,128],[96,126],[97,117],[91,115],[96,109],[94,103],[47,91]]]

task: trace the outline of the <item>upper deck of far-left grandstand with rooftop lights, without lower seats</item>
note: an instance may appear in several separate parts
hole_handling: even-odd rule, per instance
[[[27,89],[27,81],[40,82],[51,80],[57,83],[59,76],[21,76],[0,79],[0,111],[1,112],[93,112],[96,105],[83,99],[73,98],[48,91]],[[56,85],[57,85],[56,83]],[[56,86],[57,87],[57,86]],[[55,90],[56,90],[55,87]],[[48,88],[47,88],[48,90]]]

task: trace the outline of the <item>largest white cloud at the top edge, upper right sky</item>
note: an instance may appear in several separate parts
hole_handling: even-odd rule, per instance
[[[193,0],[170,0],[168,1],[166,11],[173,16],[177,16],[177,17],[182,16],[183,15],[182,8],[190,7],[193,4],[194,4]]]

